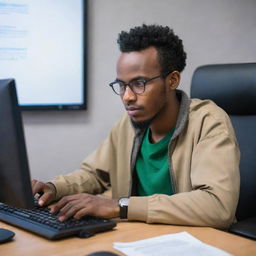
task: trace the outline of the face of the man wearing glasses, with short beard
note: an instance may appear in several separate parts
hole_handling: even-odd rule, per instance
[[[117,79],[128,83],[136,79],[149,79],[161,74],[157,50],[122,53],[117,63]],[[155,119],[168,102],[167,86],[162,77],[149,81],[142,94],[135,94],[128,86],[121,99],[135,124]]]

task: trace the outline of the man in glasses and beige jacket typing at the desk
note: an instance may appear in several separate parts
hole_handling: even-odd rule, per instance
[[[239,195],[239,149],[227,114],[177,87],[186,65],[168,27],[142,25],[118,38],[110,84],[127,113],[80,169],[32,181],[39,204],[73,216],[227,228]],[[99,196],[111,189],[112,198]]]

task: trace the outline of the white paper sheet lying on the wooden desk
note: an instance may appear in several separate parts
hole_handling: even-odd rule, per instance
[[[231,256],[207,245],[187,232],[157,236],[129,243],[113,243],[116,250],[127,256]]]

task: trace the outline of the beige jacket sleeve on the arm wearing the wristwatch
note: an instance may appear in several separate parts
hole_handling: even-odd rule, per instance
[[[228,120],[227,126],[230,126]],[[201,127],[200,138],[194,137],[196,142],[191,143],[193,149],[188,172],[191,190],[178,191],[172,196],[131,197],[130,220],[229,227],[234,221],[239,197],[240,152],[232,127],[224,130],[220,127],[223,127],[221,123],[211,120],[207,128]],[[182,163],[179,166],[183,168]]]

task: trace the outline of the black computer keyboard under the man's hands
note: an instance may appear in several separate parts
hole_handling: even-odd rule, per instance
[[[33,209],[27,210],[3,203],[0,203],[0,220],[51,240],[69,236],[86,238],[116,226],[112,220],[93,216],[86,216],[80,220],[70,218],[61,222],[47,207],[35,205]]]

